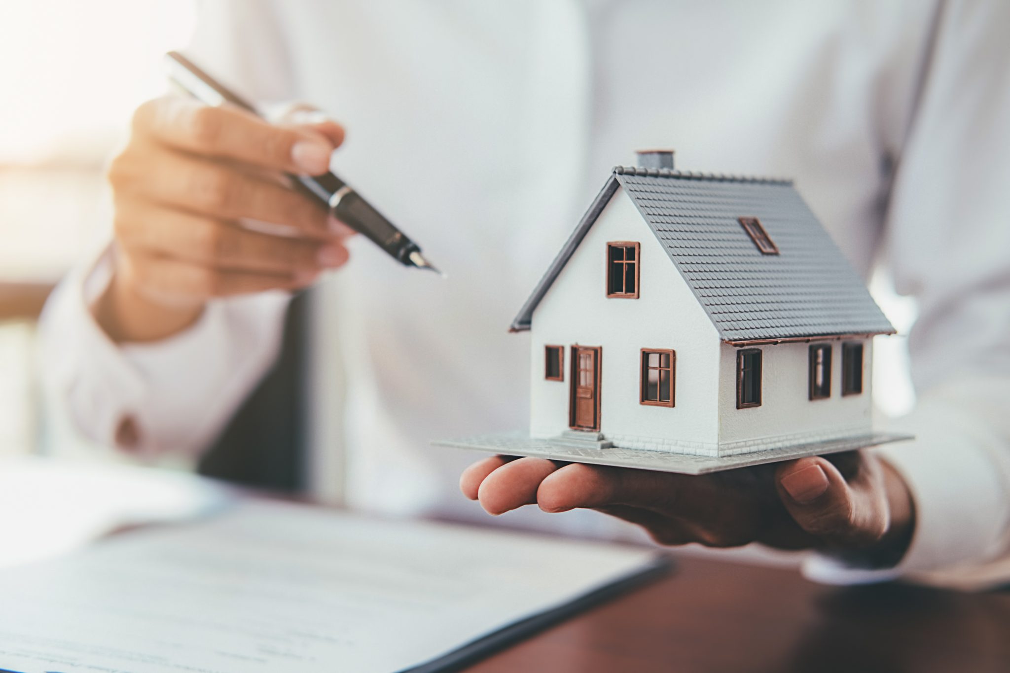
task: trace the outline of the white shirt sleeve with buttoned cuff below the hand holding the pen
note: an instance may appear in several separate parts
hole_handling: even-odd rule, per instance
[[[198,454],[276,360],[289,295],[209,302],[184,332],[152,344],[117,345],[89,310],[111,275],[107,248],[58,288],[39,324],[43,379],[89,439],[116,446],[124,421],[137,441],[119,446],[155,457]]]

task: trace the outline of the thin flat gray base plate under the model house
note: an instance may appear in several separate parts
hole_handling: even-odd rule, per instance
[[[661,472],[706,474],[708,472],[719,472],[735,467],[747,467],[749,465],[803,458],[804,456],[822,456],[841,451],[853,451],[868,446],[877,446],[879,444],[908,439],[912,439],[912,436],[875,432],[857,437],[847,437],[826,442],[795,444],[779,449],[721,457],[692,456],[683,453],[666,453],[644,449],[624,449],[619,446],[608,448],[565,446],[551,440],[532,439],[521,433],[479,435],[464,439],[439,440],[432,442],[432,444],[458,449],[475,449],[477,451],[499,453],[508,456],[534,456],[549,460],[611,465],[613,467],[633,467]]]

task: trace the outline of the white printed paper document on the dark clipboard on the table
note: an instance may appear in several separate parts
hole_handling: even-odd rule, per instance
[[[653,559],[647,549],[245,502],[0,571],[0,669],[388,673]]]

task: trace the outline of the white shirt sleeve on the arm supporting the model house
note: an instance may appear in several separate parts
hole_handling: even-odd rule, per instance
[[[880,450],[916,531],[897,568],[814,557],[811,578],[1010,579],[1010,3],[941,5],[889,201],[888,263],[919,302],[909,335],[916,440]],[[978,578],[977,582],[972,577]]]

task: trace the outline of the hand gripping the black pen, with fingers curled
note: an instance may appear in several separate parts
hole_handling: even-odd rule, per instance
[[[116,341],[165,338],[210,299],[298,290],[345,262],[349,230],[279,180],[324,174],[342,138],[332,121],[273,125],[180,96],[141,105],[109,167],[115,244],[112,281],[93,306],[101,327]]]

